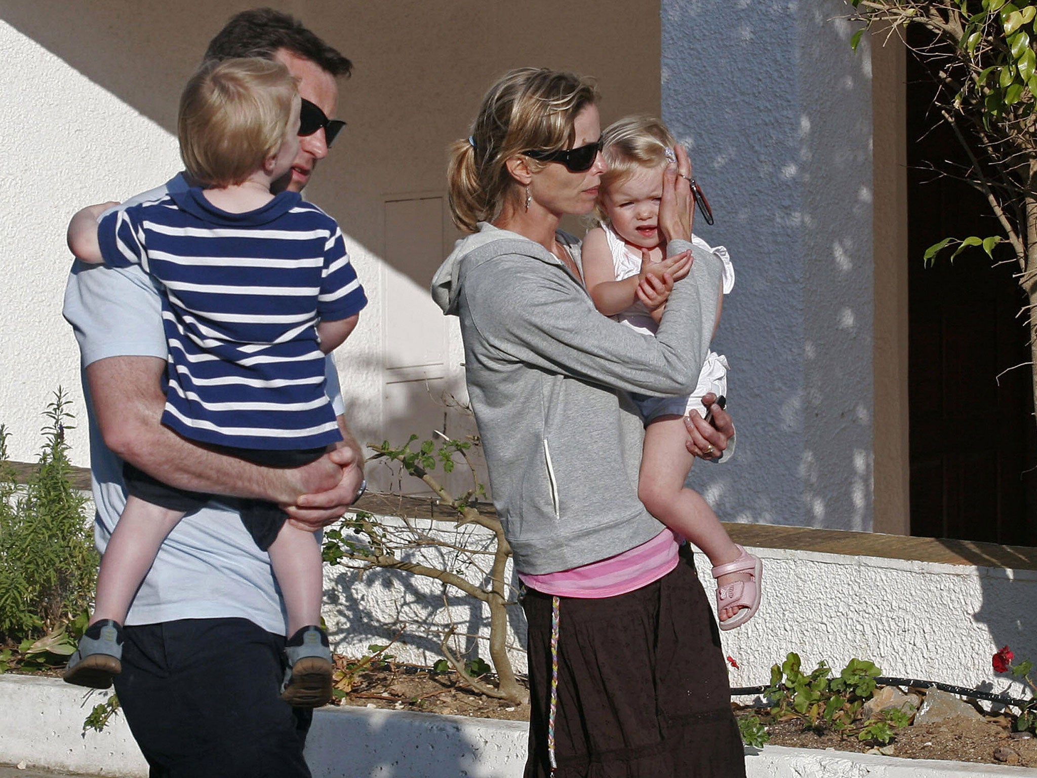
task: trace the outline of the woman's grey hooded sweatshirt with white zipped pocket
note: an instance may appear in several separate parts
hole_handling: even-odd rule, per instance
[[[581,265],[580,242],[564,232]],[[627,392],[690,394],[705,360],[721,260],[695,261],[655,337],[601,315],[543,246],[489,224],[461,239],[432,279],[460,318],[469,398],[515,567],[540,575],[605,559],[658,534],[638,499],[644,429]]]

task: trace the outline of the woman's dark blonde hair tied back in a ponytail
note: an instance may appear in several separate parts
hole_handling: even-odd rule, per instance
[[[505,74],[482,100],[469,138],[450,145],[450,215],[466,232],[501,215],[514,179],[507,161],[523,151],[557,151],[576,140],[577,114],[597,102],[590,79],[545,67]],[[527,158],[540,169],[545,163]]]

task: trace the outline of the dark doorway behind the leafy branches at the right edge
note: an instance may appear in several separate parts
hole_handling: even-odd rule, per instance
[[[913,46],[924,43],[920,34]],[[933,267],[922,262],[926,248],[944,238],[1001,232],[978,192],[931,170],[968,161],[950,128],[930,129],[934,94],[932,79],[908,54],[910,531],[1034,546],[1030,366],[1009,369],[1030,361],[1025,323],[1016,317],[1024,296],[1015,266],[991,267],[977,249],[953,263],[949,253]],[[1009,258],[1002,248],[1001,258]]]

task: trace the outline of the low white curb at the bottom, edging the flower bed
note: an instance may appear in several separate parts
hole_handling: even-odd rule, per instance
[[[113,778],[147,766],[125,719],[83,735],[105,698],[56,678],[0,676],[0,763]],[[521,778],[525,722],[367,707],[317,711],[307,740],[313,778]],[[1037,770],[766,746],[747,749],[748,778],[1037,778]]]

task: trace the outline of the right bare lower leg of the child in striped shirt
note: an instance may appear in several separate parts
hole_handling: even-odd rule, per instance
[[[316,535],[285,522],[271,544],[270,562],[284,595],[288,635],[304,627],[319,626],[324,564]]]

